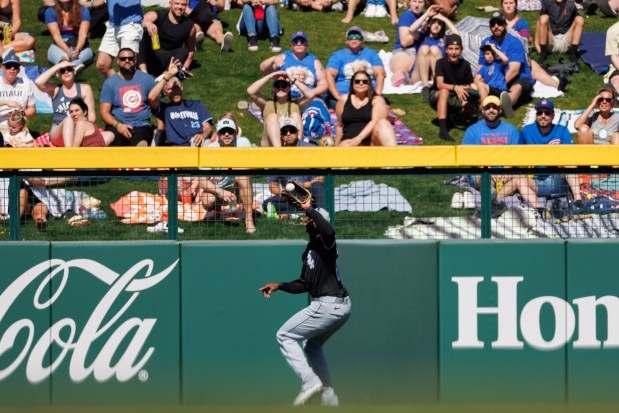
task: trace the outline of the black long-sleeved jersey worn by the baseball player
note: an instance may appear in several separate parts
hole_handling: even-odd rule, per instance
[[[315,209],[310,207],[307,216],[316,223],[319,235],[310,235],[302,255],[303,268],[299,279],[281,283],[279,288],[293,294],[309,292],[313,298],[346,297],[348,291],[342,285],[337,266],[335,231]]]

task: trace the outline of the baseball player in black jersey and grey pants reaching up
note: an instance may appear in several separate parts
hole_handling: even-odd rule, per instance
[[[291,282],[268,283],[260,291],[265,298],[270,298],[277,290],[291,294],[310,293],[310,305],[284,323],[277,332],[277,342],[302,382],[301,392],[293,405],[303,405],[322,392],[323,405],[337,406],[338,398],[331,386],[322,345],[350,317],[350,298],[340,280],[335,231],[329,223],[329,213],[321,208],[314,209],[311,198],[300,207],[307,214],[306,230],[309,234],[302,255],[301,276]],[[303,349],[301,345],[304,345]]]

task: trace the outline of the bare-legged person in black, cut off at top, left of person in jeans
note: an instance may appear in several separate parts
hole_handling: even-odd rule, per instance
[[[234,36],[225,32],[215,10],[225,8],[224,0],[190,0],[185,13],[196,28],[196,49],[202,50],[204,37],[210,37],[221,47],[222,52],[229,52]]]

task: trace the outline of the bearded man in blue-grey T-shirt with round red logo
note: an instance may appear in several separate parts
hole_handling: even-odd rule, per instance
[[[99,112],[106,130],[114,133],[113,146],[147,146],[153,139],[148,95],[155,79],[136,70],[136,54],[130,48],[118,52],[118,73],[101,87]]]

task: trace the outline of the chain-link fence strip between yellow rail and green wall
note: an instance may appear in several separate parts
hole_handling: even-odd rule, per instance
[[[5,171],[0,239],[304,238],[303,211],[278,196],[291,177],[331,213],[340,239],[618,236],[613,168],[531,171]]]

